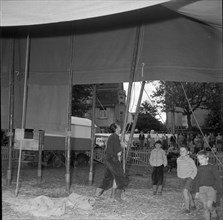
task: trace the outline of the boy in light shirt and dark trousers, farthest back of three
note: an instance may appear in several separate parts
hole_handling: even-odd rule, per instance
[[[163,168],[167,166],[167,157],[165,151],[161,148],[162,142],[160,140],[155,142],[155,148],[151,151],[149,162],[153,167],[152,184],[153,195],[162,195],[163,187]]]

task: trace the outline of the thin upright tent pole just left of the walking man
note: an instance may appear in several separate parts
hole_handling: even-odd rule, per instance
[[[95,105],[96,105],[96,85],[93,85],[93,100],[92,100],[92,122],[91,122],[91,158],[89,184],[93,183],[93,161],[94,161],[94,146],[95,146]]]

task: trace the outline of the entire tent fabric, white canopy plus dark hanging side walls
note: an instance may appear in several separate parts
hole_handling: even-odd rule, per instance
[[[59,4],[60,2],[63,4]],[[11,55],[13,40],[15,40],[14,126],[20,127],[21,124],[27,33],[31,39],[27,128],[66,130],[70,70],[73,71],[73,84],[128,82],[136,29],[139,26],[141,31],[134,81],[223,82],[222,23],[219,12],[216,12],[216,9],[219,11],[222,8],[221,1],[171,1],[182,3],[177,8],[174,8],[174,4],[167,4],[164,7],[159,4],[163,1],[159,0],[154,1],[158,5],[152,7],[146,6],[146,3],[152,2],[148,0],[105,0],[95,5],[92,2],[96,1],[2,0],[0,2],[0,25],[4,26],[0,41],[3,127],[8,126],[8,85],[13,63]],[[115,6],[118,2],[125,4],[126,7],[122,6],[126,13],[118,11],[119,7],[121,8],[121,5]],[[131,2],[138,6],[138,10],[132,8],[128,11]],[[199,4],[212,2],[213,7],[209,5],[203,10],[207,14],[202,16],[202,10],[201,14],[198,13],[201,7],[192,4],[191,9],[195,10],[188,13],[187,6],[193,2]],[[80,4],[84,3],[86,7],[74,10],[74,5],[81,6]],[[101,7],[104,3],[112,4],[108,7],[110,12],[105,8],[101,10],[104,12],[103,15],[108,16],[97,14],[100,10],[95,8]],[[139,4],[143,3],[145,5],[141,5],[142,9],[139,9]],[[182,10],[179,11],[180,9]],[[83,10],[86,10],[85,13]],[[95,15],[88,14],[87,10]],[[187,16],[177,13],[176,10]],[[95,18],[75,18],[78,13]],[[115,15],[111,15],[112,13]],[[62,22],[68,20],[71,21]],[[51,24],[52,22],[55,23]],[[34,23],[36,25],[33,25]]]

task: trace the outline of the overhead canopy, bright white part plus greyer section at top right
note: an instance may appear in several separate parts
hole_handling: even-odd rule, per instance
[[[221,0],[1,0],[0,26],[21,26],[87,19],[156,4],[222,27]]]

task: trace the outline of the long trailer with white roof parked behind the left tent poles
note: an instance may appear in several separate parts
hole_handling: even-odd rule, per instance
[[[29,134],[28,134],[29,133]],[[30,135],[32,129],[25,129],[23,161],[35,164],[38,161],[38,141]],[[45,131],[42,163],[50,167],[65,166],[65,132]],[[32,144],[29,144],[32,143]],[[28,146],[29,145],[29,146]],[[19,149],[19,141],[15,141],[15,149]],[[87,164],[91,150],[91,120],[71,117],[71,165]],[[27,155],[27,156],[26,156]]]

